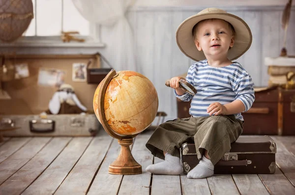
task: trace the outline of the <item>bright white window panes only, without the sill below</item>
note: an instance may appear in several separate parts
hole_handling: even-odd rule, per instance
[[[34,18],[25,36],[60,36],[61,31],[79,31],[89,36],[89,22],[72,0],[32,0]]]

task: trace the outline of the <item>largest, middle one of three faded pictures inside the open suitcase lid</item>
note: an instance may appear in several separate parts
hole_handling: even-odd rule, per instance
[[[64,83],[65,71],[52,68],[40,68],[38,74],[38,84],[42,86],[59,87]]]

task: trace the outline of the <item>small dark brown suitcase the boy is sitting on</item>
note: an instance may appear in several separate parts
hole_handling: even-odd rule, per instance
[[[242,136],[214,166],[215,174],[267,174],[275,172],[276,144],[269,136]],[[180,163],[184,173],[199,164],[194,143],[180,147]]]

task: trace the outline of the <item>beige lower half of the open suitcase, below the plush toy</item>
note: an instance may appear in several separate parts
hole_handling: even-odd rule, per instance
[[[5,131],[3,136],[95,136],[102,127],[95,114],[48,114],[46,119],[37,114],[0,115],[0,129],[15,127]]]

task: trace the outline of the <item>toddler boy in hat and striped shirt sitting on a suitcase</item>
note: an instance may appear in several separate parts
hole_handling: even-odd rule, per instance
[[[200,163],[187,177],[206,178],[213,175],[214,165],[241,135],[241,112],[249,110],[255,99],[250,75],[231,61],[249,49],[252,34],[242,19],[221,9],[207,8],[182,22],[176,38],[179,49],[198,61],[186,76],[198,92],[193,96],[179,88],[178,82],[184,78],[170,80],[177,98],[192,100],[192,117],[159,125],[146,146],[165,161],[149,165],[146,170],[154,174],[182,173],[179,147],[193,139]]]

